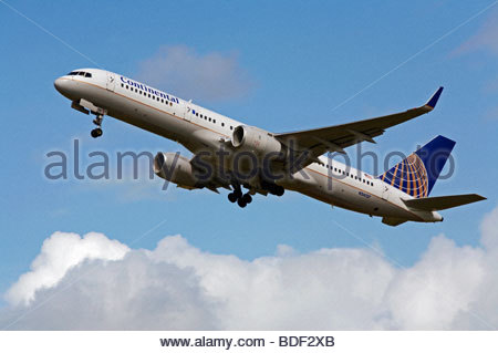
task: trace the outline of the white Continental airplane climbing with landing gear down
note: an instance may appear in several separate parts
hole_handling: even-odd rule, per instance
[[[429,113],[443,87],[426,104],[405,112],[271,133],[105,70],[74,70],[56,79],[54,86],[72,102],[71,107],[95,115],[92,137],[103,134],[103,118],[108,115],[175,141],[194,157],[158,153],[154,173],[190,190],[207,188],[219,194],[219,188],[228,189],[228,199],[242,208],[256,194],[282,196],[287,189],[398,226],[443,221],[439,210],[486,199],[476,194],[429,197],[455,146],[444,136],[436,136],[378,176],[324,156],[345,154],[344,148],[361,142],[375,143],[373,138],[388,127]]]

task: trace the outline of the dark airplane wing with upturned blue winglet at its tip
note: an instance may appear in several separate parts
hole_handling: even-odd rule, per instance
[[[406,112],[367,118],[354,123],[334,125],[322,128],[305,129],[294,133],[274,134],[273,136],[284,143],[294,153],[309,153],[305,165],[317,160],[325,152],[345,153],[344,148],[367,141],[375,143],[373,137],[382,135],[386,128],[407,122],[414,117],[434,110],[439,100],[443,87],[439,87],[428,102],[419,107]]]

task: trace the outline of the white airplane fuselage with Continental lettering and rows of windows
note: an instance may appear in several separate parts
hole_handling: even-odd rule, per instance
[[[105,110],[105,114],[154,134],[176,141],[191,152],[217,148],[220,141],[229,141],[234,129],[242,123],[194,103],[155,90],[112,72],[82,69],[91,77],[66,75],[55,81],[55,87],[73,102],[89,101]],[[281,181],[294,190],[332,206],[386,218],[440,221],[435,211],[419,211],[406,207],[403,199],[412,196],[325,156],[319,158],[291,180]],[[305,176],[304,176],[305,175]]]

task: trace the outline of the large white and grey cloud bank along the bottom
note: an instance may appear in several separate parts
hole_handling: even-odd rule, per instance
[[[64,237],[75,240],[66,241]],[[15,300],[0,313],[1,326],[498,328],[498,208],[483,220],[480,246],[459,247],[439,235],[432,239],[419,261],[406,269],[393,266],[371,249],[299,253],[279,246],[276,256],[245,261],[201,251],[181,236],[164,238],[154,250],[129,250],[100,235],[97,242],[107,246],[85,252],[87,237],[58,233],[45,241],[39,256],[44,260],[37,258],[27,273],[32,279],[21,276],[8,292]],[[54,260],[61,257],[71,260]],[[62,263],[58,274],[53,269],[43,270],[55,263]]]

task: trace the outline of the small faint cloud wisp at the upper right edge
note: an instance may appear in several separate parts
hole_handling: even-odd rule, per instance
[[[494,11],[476,34],[465,41],[455,54],[464,54],[474,51],[486,51],[498,55],[498,11]]]

